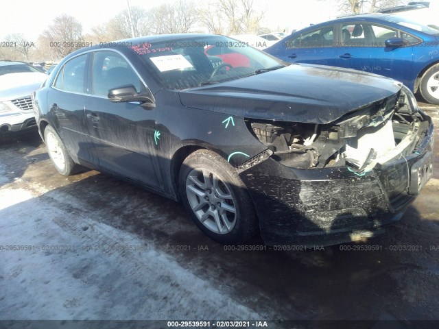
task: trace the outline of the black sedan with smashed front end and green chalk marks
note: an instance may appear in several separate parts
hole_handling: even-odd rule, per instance
[[[80,49],[33,100],[60,173],[81,165],[180,200],[221,243],[373,236],[431,177],[433,124],[405,86],[225,36]]]

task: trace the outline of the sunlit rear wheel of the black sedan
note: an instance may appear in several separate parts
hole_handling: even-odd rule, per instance
[[[48,125],[44,131],[44,141],[58,173],[62,175],[73,175],[79,169],[78,164],[75,164],[64,143],[62,143],[60,136],[56,133],[54,128]]]

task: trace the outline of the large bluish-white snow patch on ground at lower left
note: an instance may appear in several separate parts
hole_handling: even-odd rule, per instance
[[[261,318],[71,195],[13,184],[0,188],[0,319]]]

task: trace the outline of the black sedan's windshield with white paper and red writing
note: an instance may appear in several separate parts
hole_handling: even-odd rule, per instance
[[[287,65],[246,42],[225,36],[141,43],[132,49],[167,88],[179,90],[248,77]]]

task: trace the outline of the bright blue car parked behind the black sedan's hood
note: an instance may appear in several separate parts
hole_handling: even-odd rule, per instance
[[[345,16],[294,32],[264,51],[287,62],[392,77],[439,104],[439,30],[401,16]]]

